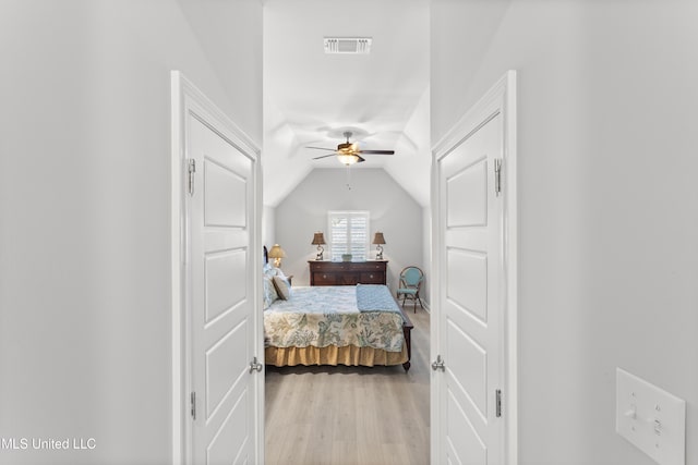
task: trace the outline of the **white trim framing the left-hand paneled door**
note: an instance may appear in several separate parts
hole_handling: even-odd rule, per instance
[[[189,392],[191,390],[191,360],[189,317],[186,299],[191,292],[188,276],[188,222],[184,186],[184,170],[186,160],[186,121],[193,114],[202,122],[214,124],[215,130],[238,147],[253,163],[255,193],[253,203],[253,228],[250,247],[261,250],[258,232],[262,225],[262,171],[260,149],[234,122],[232,122],[218,107],[202,94],[181,72],[172,71],[171,81],[171,286],[172,286],[172,463],[184,465],[192,463],[191,440],[192,430],[189,421]],[[254,305],[260,308],[262,286],[261,260],[251,260],[252,272],[258,277],[254,284]],[[262,313],[253,311],[253,328],[255,338],[255,353],[264,357]],[[254,378],[255,402],[255,444],[254,457],[264,463],[264,376]]]

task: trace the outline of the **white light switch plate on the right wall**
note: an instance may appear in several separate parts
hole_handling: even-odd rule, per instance
[[[660,465],[686,464],[686,401],[621,368],[615,430]]]

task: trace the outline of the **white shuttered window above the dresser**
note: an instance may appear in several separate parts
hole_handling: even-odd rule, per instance
[[[328,211],[330,259],[341,260],[351,254],[352,260],[365,260],[369,255],[369,212]]]

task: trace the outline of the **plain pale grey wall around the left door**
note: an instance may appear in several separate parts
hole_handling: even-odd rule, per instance
[[[96,440],[0,463],[169,463],[169,73],[261,140],[261,57],[231,105],[174,0],[5,0],[0,57],[0,437]]]

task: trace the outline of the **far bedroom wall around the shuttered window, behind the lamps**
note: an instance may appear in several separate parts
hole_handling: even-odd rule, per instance
[[[402,268],[416,265],[426,270],[422,207],[382,169],[352,169],[350,185],[348,189],[344,168],[315,169],[276,208],[275,242],[286,252],[281,268],[293,274],[293,285],[310,284],[308,260],[316,254],[311,241],[316,231],[328,233],[328,210],[370,212],[371,240],[382,231],[387,243],[383,257],[388,260],[388,286],[393,291]],[[371,245],[371,257],[375,257],[375,245]]]

